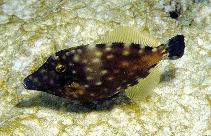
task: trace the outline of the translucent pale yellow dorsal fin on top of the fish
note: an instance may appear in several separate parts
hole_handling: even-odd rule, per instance
[[[113,42],[123,42],[123,43],[136,43],[143,46],[157,47],[160,45],[159,40],[150,36],[147,31],[139,30],[135,27],[120,26],[111,32],[106,33],[102,36],[96,43],[113,43]]]

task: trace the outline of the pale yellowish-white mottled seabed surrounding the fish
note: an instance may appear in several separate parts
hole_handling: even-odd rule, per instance
[[[50,54],[117,26],[147,26],[161,41],[185,35],[184,56],[161,62],[149,96],[85,106],[23,88]],[[1,136],[211,135],[210,106],[210,0],[0,0]]]

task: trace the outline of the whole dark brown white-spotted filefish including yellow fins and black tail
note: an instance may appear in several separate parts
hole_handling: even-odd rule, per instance
[[[117,28],[96,44],[56,52],[27,76],[25,89],[47,92],[71,100],[108,99],[122,90],[129,98],[141,95],[159,82],[159,62],[184,54],[183,35],[160,43],[146,32],[132,27]],[[154,73],[154,74],[153,74]],[[129,89],[137,84],[137,89]]]

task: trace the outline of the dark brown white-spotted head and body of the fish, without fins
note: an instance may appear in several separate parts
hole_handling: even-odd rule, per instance
[[[124,43],[79,46],[57,52],[24,80],[26,89],[83,101],[107,99],[145,78],[165,54]]]

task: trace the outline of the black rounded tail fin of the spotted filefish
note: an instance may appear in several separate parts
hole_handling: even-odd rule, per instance
[[[167,43],[168,58],[172,60],[181,58],[184,54],[184,49],[184,35],[177,35],[171,38]]]

